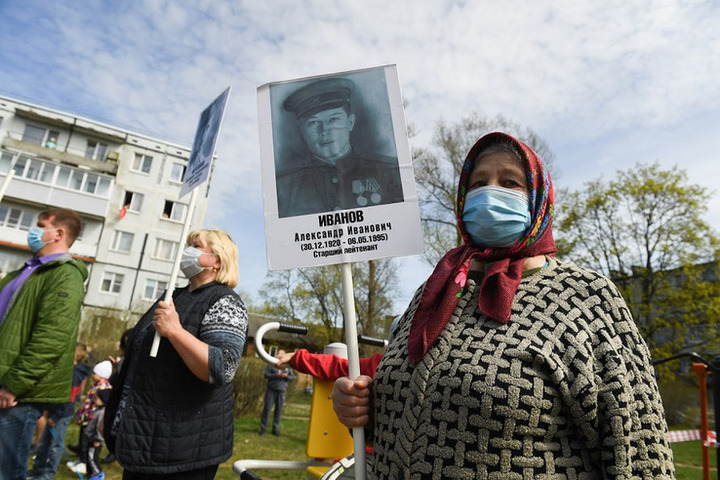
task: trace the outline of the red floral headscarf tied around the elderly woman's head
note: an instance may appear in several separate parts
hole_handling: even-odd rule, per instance
[[[463,225],[462,212],[478,153],[501,142],[514,144],[522,154],[530,191],[531,226],[525,236],[511,247],[485,248],[470,239]],[[542,161],[530,147],[501,132],[489,133],[475,143],[468,152],[458,182],[456,216],[463,245],[450,250],[440,259],[425,284],[408,339],[408,351],[413,364],[425,356],[450,319],[462,295],[473,259],[491,262],[480,283],[478,308],[498,322],[507,323],[510,320],[512,301],[520,285],[525,258],[555,252],[551,229],[553,215],[554,191],[550,172],[545,170]]]

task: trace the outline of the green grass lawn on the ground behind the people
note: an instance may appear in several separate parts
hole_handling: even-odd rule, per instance
[[[307,460],[305,456],[305,437],[307,435],[307,418],[309,405],[305,398],[297,396],[294,403],[288,403],[285,408],[281,435],[258,435],[260,419],[258,417],[242,417],[235,420],[235,444],[230,460],[222,464],[215,477],[217,480],[238,480],[233,473],[232,465],[240,459],[257,460]],[[70,425],[66,443],[76,443],[77,426]],[[702,448],[699,441],[673,443],[675,469],[677,480],[696,480],[702,478]],[[104,454],[103,454],[104,456]],[[59,480],[77,480],[78,476],[72,473],[64,464],[60,466]],[[717,463],[715,449],[710,449],[711,479],[717,480]],[[120,480],[122,469],[117,463],[103,465],[107,480]],[[304,480],[307,476],[299,471],[257,470],[263,480]]]

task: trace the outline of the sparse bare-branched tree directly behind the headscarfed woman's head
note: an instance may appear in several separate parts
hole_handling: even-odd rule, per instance
[[[552,169],[554,155],[533,130],[502,116],[494,118],[470,113],[457,123],[440,120],[430,148],[413,149],[415,181],[425,238],[425,258],[435,265],[451,248],[462,242],[455,221],[457,183],[470,148],[483,135],[502,131],[529,145]],[[555,173],[555,172],[553,172]]]

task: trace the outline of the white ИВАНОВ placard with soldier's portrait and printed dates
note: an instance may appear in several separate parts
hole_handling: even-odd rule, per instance
[[[268,268],[423,252],[395,65],[258,87]]]

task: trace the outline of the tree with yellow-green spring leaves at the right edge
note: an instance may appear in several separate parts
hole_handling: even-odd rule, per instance
[[[677,166],[640,163],[558,197],[564,254],[613,279],[655,358],[717,337],[719,243],[702,219],[705,188]]]

